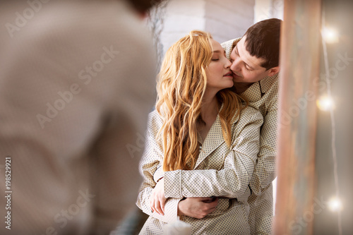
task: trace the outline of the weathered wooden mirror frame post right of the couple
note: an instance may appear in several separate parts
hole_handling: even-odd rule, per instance
[[[321,1],[285,0],[274,234],[312,234]]]

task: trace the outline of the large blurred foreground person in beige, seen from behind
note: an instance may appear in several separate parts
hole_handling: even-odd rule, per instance
[[[155,87],[148,8],[1,1],[0,234],[109,234],[134,206]]]

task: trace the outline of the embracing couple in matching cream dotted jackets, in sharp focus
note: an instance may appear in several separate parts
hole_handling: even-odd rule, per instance
[[[271,233],[281,22],[222,44],[194,30],[167,51],[140,162],[140,234],[178,216],[192,234]]]

